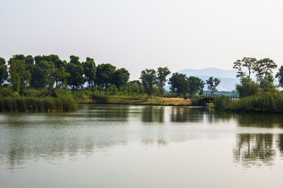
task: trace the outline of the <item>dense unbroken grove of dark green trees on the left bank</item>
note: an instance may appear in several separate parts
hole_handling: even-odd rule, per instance
[[[125,68],[116,70],[116,67],[107,63],[95,65],[92,58],[87,57],[80,62],[79,57],[70,56],[70,61],[59,59],[58,55],[13,55],[6,61],[0,58],[0,85],[7,80],[12,89],[19,94],[27,86],[35,89],[47,88],[48,93],[55,88],[69,87],[82,89],[84,84],[88,88],[108,88],[111,84],[116,87],[125,85],[129,81],[130,73]]]

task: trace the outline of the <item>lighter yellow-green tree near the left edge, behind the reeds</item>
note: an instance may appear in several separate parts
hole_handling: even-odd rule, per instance
[[[19,57],[20,59],[18,59]],[[8,65],[8,81],[10,82],[12,89],[21,94],[31,80],[31,73],[26,70],[25,56],[13,55],[13,57],[8,60]]]

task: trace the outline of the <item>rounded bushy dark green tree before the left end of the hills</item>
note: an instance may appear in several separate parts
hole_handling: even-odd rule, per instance
[[[169,78],[168,84],[170,85],[170,91],[177,93],[177,97],[180,97],[180,94],[185,94],[189,91],[190,83],[185,74],[180,74],[175,72]]]

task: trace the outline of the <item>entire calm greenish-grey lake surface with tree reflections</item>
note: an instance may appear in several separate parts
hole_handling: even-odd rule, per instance
[[[130,105],[0,113],[0,187],[282,183],[282,115]]]

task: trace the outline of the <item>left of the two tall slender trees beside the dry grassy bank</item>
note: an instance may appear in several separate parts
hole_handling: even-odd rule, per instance
[[[154,85],[157,83],[156,78],[156,71],[154,69],[145,69],[141,72],[140,80],[145,92],[148,95],[147,99],[149,99],[150,96],[152,98]]]

